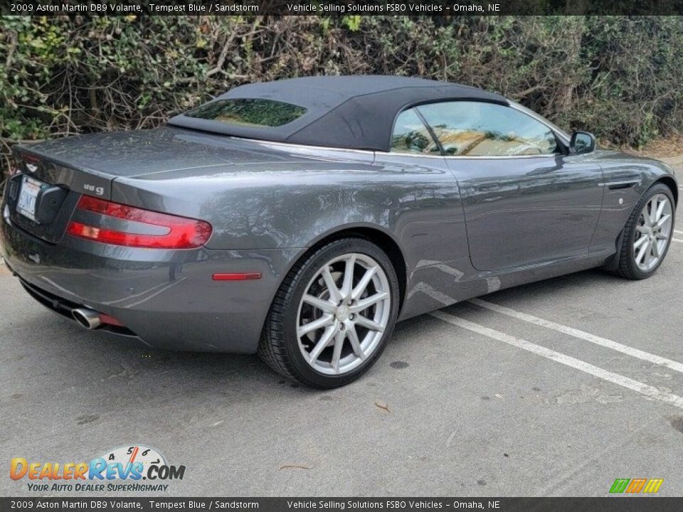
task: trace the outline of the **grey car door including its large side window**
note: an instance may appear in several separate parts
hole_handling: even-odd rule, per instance
[[[548,124],[489,102],[418,107],[460,187],[470,258],[500,271],[585,255],[603,200],[600,166]]]

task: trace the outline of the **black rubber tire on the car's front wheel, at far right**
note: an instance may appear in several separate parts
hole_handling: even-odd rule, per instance
[[[642,211],[642,208],[647,204],[647,202],[650,201],[650,199],[652,199],[657,194],[664,194],[665,196],[667,196],[667,198],[669,198],[669,201],[671,202],[671,234],[669,235],[669,240],[667,241],[665,250],[662,253],[662,256],[660,257],[660,260],[657,262],[657,265],[655,265],[655,267],[652,267],[652,269],[650,270],[644,271],[640,267],[638,267],[637,263],[635,262],[635,251],[633,249],[633,243],[635,242],[636,228],[638,220],[640,218],[640,212]],[[615,270],[616,274],[620,275],[621,277],[625,277],[626,279],[647,279],[647,277],[650,277],[652,274],[657,272],[657,269],[660,267],[660,265],[662,265],[662,262],[664,261],[667,252],[669,251],[669,245],[671,245],[671,238],[674,233],[675,208],[676,203],[674,202],[674,197],[671,193],[671,189],[667,187],[665,184],[655,183],[655,185],[647,189],[647,191],[642,195],[642,198],[640,198],[640,201],[638,201],[635,208],[633,208],[633,211],[631,212],[631,215],[629,216],[628,220],[626,221],[626,225],[624,226],[624,234],[621,241],[621,247],[619,248],[619,251],[617,253],[619,261],[618,266]]]

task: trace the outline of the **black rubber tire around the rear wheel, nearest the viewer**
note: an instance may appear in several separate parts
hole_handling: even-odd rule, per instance
[[[335,257],[349,253],[367,255],[380,265],[389,284],[390,313],[381,340],[358,368],[341,375],[327,375],[313,368],[302,355],[297,338],[299,306],[309,282],[316,277],[320,268]],[[386,347],[398,316],[398,289],[398,278],[391,260],[369,240],[342,238],[329,242],[303,257],[285,277],[270,306],[258,345],[258,355],[280,375],[312,388],[337,388],[349,384],[363,375],[377,361]]]

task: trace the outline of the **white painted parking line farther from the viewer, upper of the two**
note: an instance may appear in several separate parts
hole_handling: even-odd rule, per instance
[[[672,361],[672,359],[663,358],[660,356],[655,356],[655,354],[638,350],[637,348],[632,348],[630,346],[622,345],[617,341],[612,341],[608,338],[602,338],[601,336],[595,336],[595,334],[587,333],[586,331],[581,331],[579,329],[574,329],[573,327],[558,324],[557,322],[541,319],[538,316],[522,313],[521,311],[515,311],[505,306],[499,306],[498,304],[492,304],[491,302],[482,301],[482,299],[471,299],[472,304],[477,304],[496,313],[504,314],[507,316],[512,316],[519,320],[524,320],[529,322],[529,324],[535,324],[537,326],[546,327],[548,329],[553,329],[574,338],[580,338],[582,340],[590,341],[595,343],[595,345],[604,346],[611,348],[612,350],[625,353],[628,356],[632,356],[643,361],[648,361],[650,363],[655,363],[656,365],[666,366],[674,371],[683,373],[683,363],[678,361]]]

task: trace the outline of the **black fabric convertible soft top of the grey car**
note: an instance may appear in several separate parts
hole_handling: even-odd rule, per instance
[[[169,124],[248,139],[388,151],[393,122],[407,107],[443,100],[480,100],[508,105],[504,97],[476,87],[383,75],[258,82],[235,87],[212,102],[226,99],[274,100],[304,107],[306,112],[292,122],[274,127],[200,119],[191,117],[191,112],[172,117]]]

